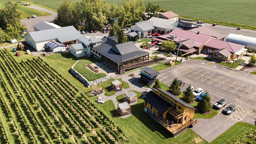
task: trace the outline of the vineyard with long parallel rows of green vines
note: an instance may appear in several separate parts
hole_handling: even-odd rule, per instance
[[[101,110],[39,58],[17,62],[0,50],[0,143],[117,143]]]

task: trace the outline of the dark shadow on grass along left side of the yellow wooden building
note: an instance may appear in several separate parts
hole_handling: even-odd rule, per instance
[[[163,126],[158,124],[147,113],[145,113],[145,111],[143,111],[144,109],[143,102],[132,105],[131,108],[132,108],[132,115],[134,115],[152,132],[155,132],[156,134],[158,134],[159,137],[161,137],[162,139],[167,139],[171,137],[171,133],[169,133],[169,131],[166,132],[167,130],[165,130]]]

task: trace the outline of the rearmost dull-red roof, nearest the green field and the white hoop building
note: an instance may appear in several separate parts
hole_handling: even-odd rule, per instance
[[[225,38],[224,35],[218,33],[216,30],[213,30],[207,26],[195,27],[195,28],[189,29],[188,31],[191,31],[193,33],[198,33],[198,31],[200,31],[201,34],[210,35],[210,36],[216,37],[217,39]]]

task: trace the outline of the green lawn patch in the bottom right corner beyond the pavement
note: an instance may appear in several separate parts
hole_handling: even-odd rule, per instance
[[[250,132],[250,136],[253,135],[253,130],[255,129],[255,125],[237,122],[235,125],[230,127],[226,132],[219,135],[219,137],[215,138],[211,143],[239,143],[241,139],[241,143],[249,143],[246,140],[247,132]],[[251,141],[251,143],[255,143]]]

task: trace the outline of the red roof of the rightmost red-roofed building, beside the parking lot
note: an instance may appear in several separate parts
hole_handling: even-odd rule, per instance
[[[205,44],[205,46],[213,47],[214,49],[225,49],[227,48],[229,52],[235,53],[241,49],[243,49],[245,46],[241,44],[235,44],[231,42],[226,41],[220,41],[218,39],[210,39],[209,42]]]

